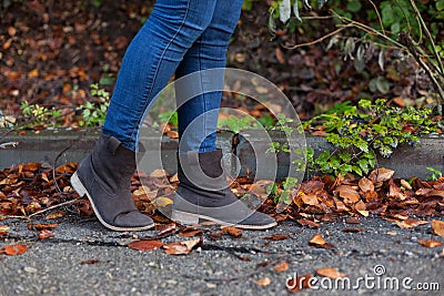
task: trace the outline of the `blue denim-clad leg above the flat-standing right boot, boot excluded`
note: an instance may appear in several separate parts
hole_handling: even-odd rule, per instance
[[[211,23],[186,52],[175,71],[176,79],[193,72],[225,67],[226,48],[238,24],[242,2],[243,0],[216,1]],[[179,135],[181,139],[179,150],[182,153],[186,151],[209,152],[215,150],[215,131],[222,92],[204,92],[208,89],[223,86],[224,71],[218,71],[213,75],[214,72],[211,74],[203,72],[199,76],[193,75],[196,79],[201,79],[200,88],[203,94],[188,100],[178,109]],[[186,100],[186,98],[181,98],[180,89],[176,89],[176,98],[178,104]],[[184,134],[189,126],[190,129]]]

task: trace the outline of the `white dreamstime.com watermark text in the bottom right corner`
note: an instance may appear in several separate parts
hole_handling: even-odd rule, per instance
[[[412,277],[386,276],[384,265],[377,264],[373,267],[373,274],[365,274],[354,279],[344,276],[337,278],[330,277],[297,277],[297,273],[289,276],[285,285],[289,289],[311,289],[326,290],[440,290],[440,283],[415,283]],[[297,279],[296,279],[297,278]],[[296,280],[295,280],[296,279]]]

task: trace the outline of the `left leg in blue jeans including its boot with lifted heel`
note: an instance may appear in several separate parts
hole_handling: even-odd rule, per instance
[[[71,184],[87,195],[99,221],[114,231],[142,231],[153,221],[130,192],[142,116],[212,20],[216,0],[158,0],[123,58],[103,134]]]

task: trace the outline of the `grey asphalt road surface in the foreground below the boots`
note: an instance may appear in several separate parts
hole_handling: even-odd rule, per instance
[[[443,246],[418,244],[430,238],[444,243],[430,224],[403,229],[379,217],[362,218],[359,225],[344,220],[314,229],[282,223],[271,231],[244,231],[240,238],[212,239],[205,234],[200,248],[180,256],[128,247],[135,235],[154,235],[153,231],[108,232],[95,220],[71,217],[59,221],[54,236],[41,241],[24,221],[0,221],[10,226],[10,237],[1,238],[0,247],[30,246],[19,256],[0,255],[0,295],[287,295],[286,280],[294,274],[312,274],[317,280],[297,295],[444,295]],[[343,232],[351,227],[362,231]],[[273,234],[290,237],[264,238]],[[334,248],[310,246],[314,234]],[[161,241],[186,239],[172,235]],[[85,261],[95,263],[82,264]],[[278,273],[273,266],[282,261],[289,269]],[[337,268],[350,286],[336,282],[335,287],[334,279],[316,275],[325,267]]]

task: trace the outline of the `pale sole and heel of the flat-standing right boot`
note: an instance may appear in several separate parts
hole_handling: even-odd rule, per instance
[[[176,211],[176,210],[173,210],[171,220],[176,221],[181,224],[186,224],[186,225],[195,225],[195,224],[199,224],[200,220],[206,220],[206,221],[215,222],[223,226],[233,226],[233,227],[238,227],[238,228],[242,228],[242,229],[256,229],[256,231],[268,229],[268,228],[271,228],[271,227],[274,227],[278,225],[276,222],[265,224],[265,225],[232,224],[232,223],[226,223],[226,222],[213,218],[211,216],[194,214],[194,213],[186,213],[186,212]]]

